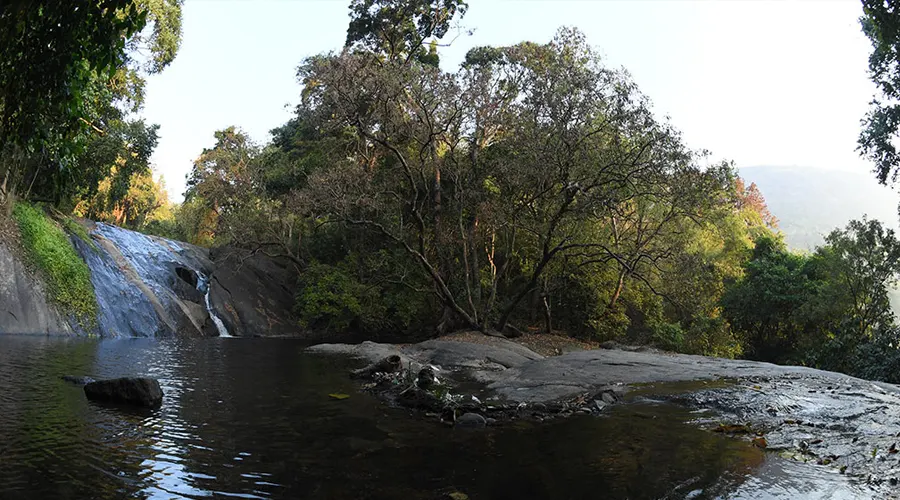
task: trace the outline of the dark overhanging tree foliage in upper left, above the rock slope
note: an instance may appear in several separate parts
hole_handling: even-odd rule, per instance
[[[144,75],[181,40],[181,0],[0,4],[0,203],[71,208],[149,172],[157,126],[137,113]]]

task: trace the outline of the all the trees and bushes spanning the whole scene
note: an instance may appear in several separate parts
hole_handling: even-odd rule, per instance
[[[216,131],[175,206],[139,111],[177,54],[181,2],[76,3],[79,23],[60,23],[72,3],[0,7],[7,207],[280,259],[310,331],[556,332],[897,380],[894,232],[851,221],[790,251],[757,186],[686,144],[577,29],[448,69],[465,2],[352,0],[344,46],[300,62],[290,120],[262,144]],[[897,16],[863,3],[892,99]],[[879,106],[860,147],[884,182],[896,120]]]

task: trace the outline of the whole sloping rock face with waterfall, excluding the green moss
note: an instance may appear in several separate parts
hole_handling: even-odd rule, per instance
[[[0,333],[102,337],[296,336],[295,267],[263,254],[210,251],[82,221],[90,241],[71,241],[91,272],[96,325],[70,321],[49,303],[38,275],[12,251],[14,223],[0,219]],[[6,243],[4,243],[6,242]],[[212,314],[211,314],[212,313]],[[218,324],[216,320],[221,320]],[[84,331],[89,328],[89,331]]]

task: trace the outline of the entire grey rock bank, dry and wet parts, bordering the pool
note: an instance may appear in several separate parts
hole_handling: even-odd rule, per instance
[[[694,424],[745,439],[767,452],[818,464],[890,488],[900,478],[900,389],[839,373],[664,353],[595,349],[545,357],[493,337],[419,344],[321,344],[309,352],[375,362],[397,354],[404,367],[433,365],[463,398],[477,392],[500,404],[578,401],[612,391],[615,401],[676,402],[696,412]],[[478,387],[467,385],[474,380]],[[599,413],[602,413],[602,406]],[[577,412],[577,409],[576,409]]]

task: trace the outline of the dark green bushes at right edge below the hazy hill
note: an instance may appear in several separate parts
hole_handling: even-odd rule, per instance
[[[898,276],[900,240],[878,221],[851,221],[811,255],[762,237],[723,298],[724,316],[745,332],[751,357],[898,382],[888,300]]]

